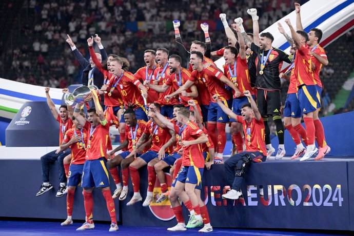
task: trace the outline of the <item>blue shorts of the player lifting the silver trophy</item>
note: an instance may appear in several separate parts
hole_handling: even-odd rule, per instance
[[[109,187],[109,175],[106,159],[86,160],[83,169],[81,187]]]

